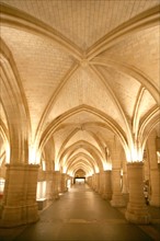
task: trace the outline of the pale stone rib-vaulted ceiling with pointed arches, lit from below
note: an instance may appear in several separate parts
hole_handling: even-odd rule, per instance
[[[130,160],[160,135],[159,3],[1,0],[0,141],[21,119],[46,167],[89,174],[110,165],[115,140]]]

